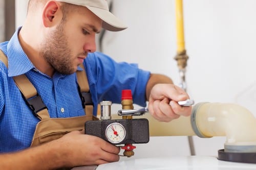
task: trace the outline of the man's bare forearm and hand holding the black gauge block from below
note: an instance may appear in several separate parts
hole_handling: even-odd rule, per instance
[[[119,160],[120,148],[80,131],[24,151],[0,154],[1,169],[57,169]]]

